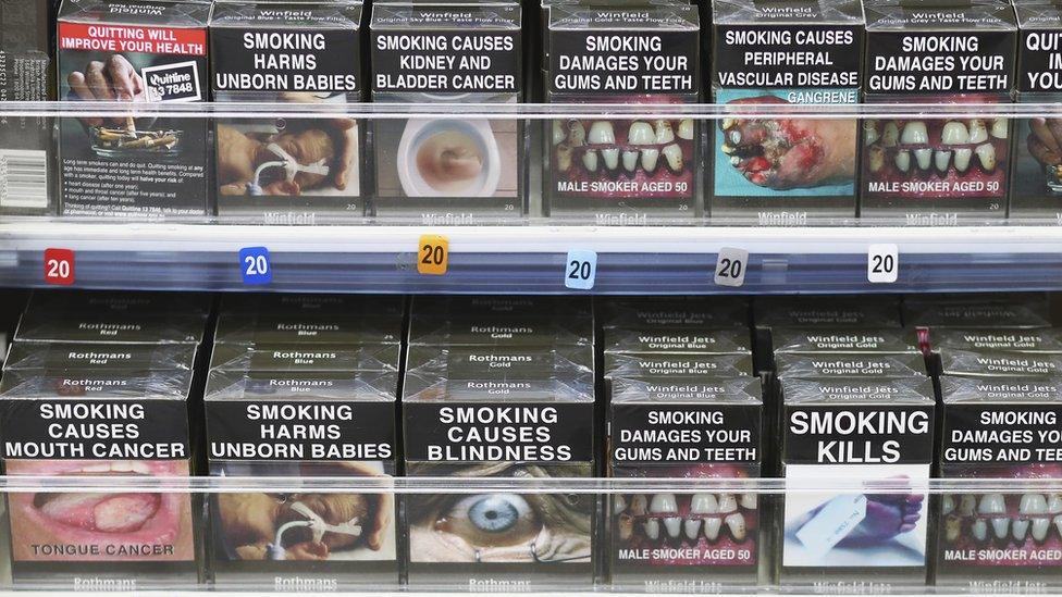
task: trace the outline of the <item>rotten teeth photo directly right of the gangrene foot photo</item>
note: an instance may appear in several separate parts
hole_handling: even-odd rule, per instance
[[[1007,184],[1007,119],[867,120],[867,185],[878,197],[984,197]]]

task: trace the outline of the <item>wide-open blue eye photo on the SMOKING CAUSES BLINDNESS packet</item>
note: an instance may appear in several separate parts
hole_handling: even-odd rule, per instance
[[[443,474],[439,465],[418,474]],[[576,476],[581,467],[474,464],[446,468],[448,476]],[[585,475],[585,472],[582,472]],[[594,499],[572,494],[410,496],[409,551],[413,562],[589,562]]]

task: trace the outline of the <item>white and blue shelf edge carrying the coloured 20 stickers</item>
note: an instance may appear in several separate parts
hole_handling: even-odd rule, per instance
[[[418,273],[422,235],[449,241],[445,275]],[[873,245],[894,244],[898,279],[867,281]],[[598,256],[598,294],[934,293],[1062,289],[1062,227],[232,226],[0,222],[0,285],[45,287],[45,251],[70,249],[74,285],[242,290],[239,250],[269,249],[252,289],[305,293],[560,294],[568,251]],[[744,283],[715,284],[720,250],[749,252]]]

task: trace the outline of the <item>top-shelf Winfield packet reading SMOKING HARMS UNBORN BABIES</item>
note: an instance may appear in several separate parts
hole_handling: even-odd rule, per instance
[[[214,100],[361,101],[359,1],[217,2]],[[307,110],[310,110],[307,107]],[[357,223],[365,215],[362,123],[233,119],[215,127],[218,216],[252,224]]]

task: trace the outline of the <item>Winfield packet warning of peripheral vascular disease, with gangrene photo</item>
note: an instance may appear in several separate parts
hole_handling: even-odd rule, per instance
[[[860,102],[856,1],[716,2],[713,97],[754,110]],[[799,226],[855,216],[854,119],[734,115],[713,123],[713,221]]]

